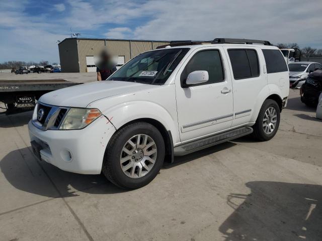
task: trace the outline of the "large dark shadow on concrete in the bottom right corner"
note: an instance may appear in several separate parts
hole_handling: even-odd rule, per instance
[[[255,181],[251,194],[231,193],[234,212],[220,225],[226,241],[322,240],[322,186]],[[244,202],[240,205],[240,199]]]

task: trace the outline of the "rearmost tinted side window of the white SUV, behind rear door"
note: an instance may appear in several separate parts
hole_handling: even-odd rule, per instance
[[[281,51],[278,49],[263,49],[267,73],[285,72],[287,65]]]

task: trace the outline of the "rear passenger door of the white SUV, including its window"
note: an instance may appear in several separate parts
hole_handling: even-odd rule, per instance
[[[224,47],[229,58],[233,85],[232,126],[251,122],[251,115],[261,90],[267,85],[263,54],[258,47]]]

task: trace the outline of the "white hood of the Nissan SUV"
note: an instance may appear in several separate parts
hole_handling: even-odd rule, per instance
[[[125,81],[97,81],[46,93],[39,98],[39,101],[57,106],[86,107],[89,103],[98,99],[155,88],[157,86]]]

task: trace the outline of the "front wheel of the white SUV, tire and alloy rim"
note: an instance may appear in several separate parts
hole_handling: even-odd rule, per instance
[[[160,132],[151,124],[134,123],[118,130],[111,138],[105,151],[102,172],[120,188],[136,189],[155,178],[164,159],[165,142]]]

